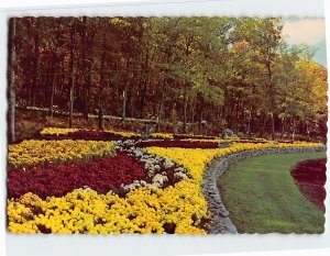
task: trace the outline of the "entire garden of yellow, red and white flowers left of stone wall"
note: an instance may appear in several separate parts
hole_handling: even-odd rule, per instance
[[[44,129],[9,146],[14,233],[207,234],[206,167],[229,154],[321,143]]]

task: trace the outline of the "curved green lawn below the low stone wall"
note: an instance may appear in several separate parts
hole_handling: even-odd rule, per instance
[[[240,233],[323,233],[324,214],[299,191],[290,168],[326,153],[253,157],[232,165],[218,186]]]

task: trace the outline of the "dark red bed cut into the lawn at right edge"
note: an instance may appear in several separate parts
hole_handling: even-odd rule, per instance
[[[301,193],[322,211],[326,211],[326,164],[324,158],[305,160],[297,164],[290,171]]]

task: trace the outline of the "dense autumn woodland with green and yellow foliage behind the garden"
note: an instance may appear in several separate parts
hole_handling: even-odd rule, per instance
[[[114,115],[154,120],[158,132],[326,137],[327,69],[311,60],[314,49],[287,45],[282,26],[252,18],[11,19],[10,141],[24,107],[63,111],[67,126],[81,113],[96,114],[99,129]]]

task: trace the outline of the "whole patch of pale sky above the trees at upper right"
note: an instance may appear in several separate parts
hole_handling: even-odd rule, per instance
[[[284,21],[282,33],[287,36],[288,44],[307,44],[315,47],[314,60],[327,67],[324,19],[290,18]]]

